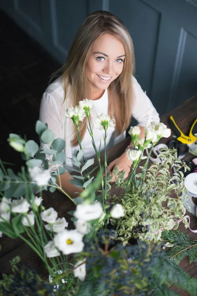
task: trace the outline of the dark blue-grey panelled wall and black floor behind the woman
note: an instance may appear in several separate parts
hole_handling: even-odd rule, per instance
[[[3,160],[21,158],[6,142],[9,133],[37,141],[42,93],[95,10],[109,10],[125,23],[135,77],[161,115],[197,94],[197,0],[0,0],[0,8]]]

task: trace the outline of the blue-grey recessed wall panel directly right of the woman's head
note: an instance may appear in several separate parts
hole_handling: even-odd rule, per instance
[[[109,1],[109,10],[118,15],[131,34],[136,60],[136,78],[150,95],[160,13],[140,0]]]

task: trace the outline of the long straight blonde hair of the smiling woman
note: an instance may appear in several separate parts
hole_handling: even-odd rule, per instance
[[[128,128],[131,120],[133,101],[131,75],[134,73],[135,59],[131,36],[117,16],[108,11],[96,11],[85,19],[68,51],[66,64],[63,66],[62,83],[65,100],[70,96],[73,107],[78,105],[79,101],[90,97],[85,67],[93,43],[104,33],[112,34],[121,40],[126,53],[122,73],[107,89],[108,113],[110,118],[115,120],[116,136],[118,136]],[[86,130],[87,120],[83,120],[80,122],[81,139],[84,138]],[[74,130],[71,145],[77,146],[77,144],[77,131]]]

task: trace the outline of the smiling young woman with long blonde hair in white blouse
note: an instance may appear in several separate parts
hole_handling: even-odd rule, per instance
[[[107,11],[88,16],[71,44],[63,74],[47,87],[40,106],[40,120],[48,123],[56,138],[66,141],[66,164],[71,165],[69,157],[79,145],[77,131],[65,111],[85,98],[93,100],[92,122],[101,113],[114,120],[115,127],[107,131],[107,148],[125,138],[131,115],[138,121],[142,138],[144,127],[151,121],[159,121],[159,114],[133,77],[134,66],[133,44],[123,22]],[[93,127],[93,132],[99,148],[103,131]],[[85,158],[92,158],[95,150],[86,119],[81,123],[80,135]],[[118,166],[119,170],[126,171],[127,177],[131,164],[125,152],[108,164],[108,171]],[[56,170],[53,165],[50,169]],[[69,183],[70,179],[68,172],[61,175],[63,189],[74,197],[73,192],[78,188]]]

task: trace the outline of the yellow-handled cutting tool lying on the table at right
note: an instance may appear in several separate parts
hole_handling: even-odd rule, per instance
[[[181,143],[190,145],[190,144],[193,144],[193,143],[195,143],[197,141],[197,137],[194,135],[194,134],[197,133],[197,119],[192,124],[189,136],[186,136],[180,130],[180,128],[176,124],[173,116],[169,116],[169,123],[170,123],[170,126],[171,126],[172,130],[175,132],[175,134],[177,134],[176,139],[178,141],[180,141]]]

